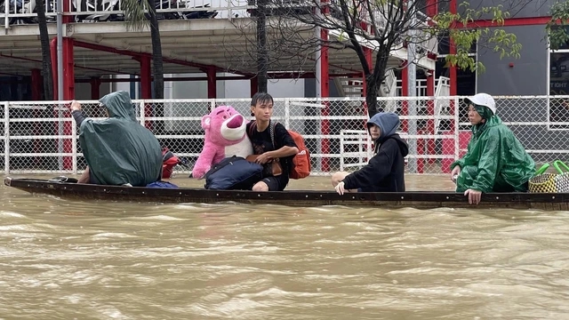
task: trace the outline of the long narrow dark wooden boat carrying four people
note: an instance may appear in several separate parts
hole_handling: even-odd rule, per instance
[[[541,209],[569,210],[569,193],[489,193],[482,195],[478,205],[469,204],[468,198],[453,192],[413,191],[402,193],[369,192],[338,195],[333,190],[290,190],[280,192],[254,192],[241,190],[208,190],[203,188],[133,188],[98,186],[52,180],[14,179],[7,177],[4,185],[32,194],[115,201],[135,201],[164,204],[217,204],[236,202],[243,204],[282,204],[290,206],[350,205],[367,207],[431,209],[484,208],[484,209]]]

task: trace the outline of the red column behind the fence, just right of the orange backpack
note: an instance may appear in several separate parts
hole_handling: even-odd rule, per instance
[[[328,30],[321,29],[320,36],[323,40],[328,40]],[[322,98],[328,98],[330,96],[330,74],[328,68],[328,47],[322,46],[320,48],[320,92]],[[330,122],[328,121],[328,116],[330,115],[330,103],[325,101],[325,108],[322,109],[322,134],[330,134]],[[322,154],[327,155],[330,153],[330,140],[322,140]],[[330,159],[328,157],[322,158],[322,171],[330,171]]]

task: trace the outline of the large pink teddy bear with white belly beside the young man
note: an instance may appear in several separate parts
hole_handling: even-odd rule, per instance
[[[202,117],[205,130],[204,148],[197,157],[192,177],[203,179],[214,164],[228,156],[252,155],[252,144],[246,132],[247,122],[235,108],[220,106]]]

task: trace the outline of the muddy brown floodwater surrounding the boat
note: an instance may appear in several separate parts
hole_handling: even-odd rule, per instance
[[[0,196],[1,319],[569,317],[569,212]]]

